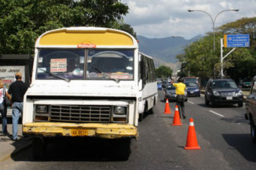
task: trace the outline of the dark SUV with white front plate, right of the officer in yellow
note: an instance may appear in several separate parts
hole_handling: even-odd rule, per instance
[[[205,105],[238,104],[243,106],[243,92],[232,79],[219,78],[208,81],[205,87]]]

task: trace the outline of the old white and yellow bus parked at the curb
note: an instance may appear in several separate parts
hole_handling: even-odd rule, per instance
[[[23,134],[34,136],[35,158],[44,157],[49,139],[79,136],[118,139],[119,158],[127,159],[139,114],[152,111],[157,97],[153,60],[127,32],[51,30],[35,43]]]

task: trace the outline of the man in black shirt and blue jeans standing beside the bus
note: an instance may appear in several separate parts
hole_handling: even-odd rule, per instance
[[[8,89],[8,98],[12,100],[12,140],[14,141],[18,140],[19,113],[22,114],[23,112],[23,98],[28,89],[28,85],[21,81],[21,72],[17,72],[15,78],[17,81],[10,84]],[[10,94],[12,97],[10,97]]]

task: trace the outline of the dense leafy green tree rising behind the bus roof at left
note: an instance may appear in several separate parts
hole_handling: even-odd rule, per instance
[[[120,0],[0,0],[0,54],[33,54],[37,37],[57,28],[120,28],[128,9]]]

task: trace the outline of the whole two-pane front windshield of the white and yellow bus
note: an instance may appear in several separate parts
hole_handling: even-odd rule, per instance
[[[84,77],[133,80],[134,50],[39,50],[37,79],[82,80]]]

